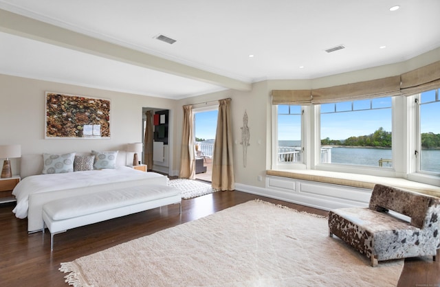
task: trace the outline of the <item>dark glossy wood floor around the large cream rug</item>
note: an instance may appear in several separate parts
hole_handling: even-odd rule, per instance
[[[182,200],[181,216],[178,205],[170,205],[58,234],[55,236],[55,250],[51,253],[50,233],[28,234],[27,220],[19,220],[12,214],[14,205],[0,205],[0,286],[67,286],[63,273],[58,271],[61,262],[69,262],[254,198],[327,216],[327,211],[280,200],[243,192],[216,192]],[[428,257],[406,260],[399,286],[440,286],[439,261],[432,262],[432,258]]]

